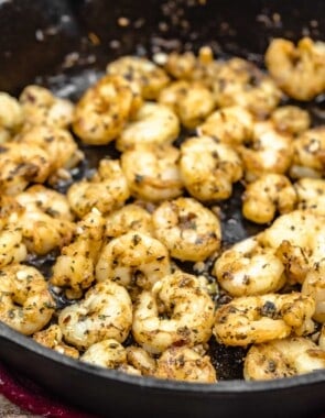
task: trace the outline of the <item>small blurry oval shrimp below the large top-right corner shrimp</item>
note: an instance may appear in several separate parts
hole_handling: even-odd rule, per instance
[[[279,131],[292,134],[306,131],[312,122],[307,110],[292,105],[280,106],[272,112],[270,119]]]

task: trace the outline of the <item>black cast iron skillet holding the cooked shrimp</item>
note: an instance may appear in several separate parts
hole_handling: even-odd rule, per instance
[[[121,19],[122,18],[122,19]],[[323,0],[0,1],[0,90],[19,94],[30,82],[77,99],[117,56],[197,51],[248,57],[259,65],[272,36],[322,40]],[[308,105],[324,122],[324,99]],[[87,166],[106,148],[85,147]],[[224,243],[257,231],[240,215],[240,194],[225,202]],[[36,344],[0,323],[0,359],[64,400],[106,417],[319,417],[325,372],[271,382],[243,382],[240,350],[213,345],[227,370],[215,385],[141,378],[85,364]],[[241,355],[241,356],[240,356]],[[226,367],[226,369],[227,369]]]

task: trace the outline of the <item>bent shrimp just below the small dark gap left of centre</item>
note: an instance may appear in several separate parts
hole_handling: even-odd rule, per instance
[[[127,178],[118,160],[101,160],[89,180],[76,182],[67,190],[68,202],[78,218],[93,208],[105,216],[120,208],[129,197]]]

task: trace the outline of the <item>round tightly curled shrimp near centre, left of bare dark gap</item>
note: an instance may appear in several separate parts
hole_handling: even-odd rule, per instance
[[[192,198],[162,202],[152,216],[155,237],[182,261],[204,261],[220,249],[219,219]]]

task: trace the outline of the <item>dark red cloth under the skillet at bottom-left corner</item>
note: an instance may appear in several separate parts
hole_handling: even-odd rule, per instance
[[[53,395],[37,386],[29,378],[10,372],[0,363],[0,393],[20,408],[51,418],[96,418],[74,407],[64,405]]]

